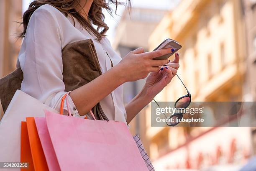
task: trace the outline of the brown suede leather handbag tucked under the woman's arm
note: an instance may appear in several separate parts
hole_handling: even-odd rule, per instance
[[[62,61],[66,92],[77,89],[102,74],[92,39],[67,44],[62,49]],[[20,89],[22,80],[23,72],[20,68],[0,79],[0,99],[4,112],[16,90]],[[100,103],[93,107],[93,113],[97,120],[108,120]]]

